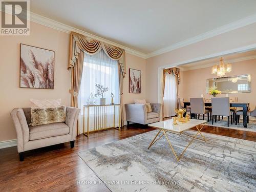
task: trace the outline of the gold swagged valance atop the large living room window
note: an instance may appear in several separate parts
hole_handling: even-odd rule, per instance
[[[93,55],[101,49],[113,60],[118,60],[122,69],[122,75],[125,76],[125,51],[124,49],[106,44],[96,39],[86,37],[84,35],[71,32],[70,33],[70,61],[68,68],[74,67],[78,55],[81,51]]]

